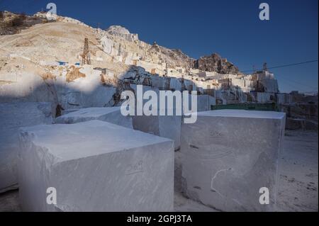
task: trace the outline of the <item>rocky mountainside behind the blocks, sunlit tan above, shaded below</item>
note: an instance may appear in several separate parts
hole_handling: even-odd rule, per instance
[[[20,22],[13,26],[16,18]],[[63,16],[49,23],[43,12],[4,12],[0,24],[5,30],[0,35],[0,102],[49,101],[65,109],[114,106],[123,89],[133,89],[130,84],[196,90],[215,82],[199,80],[198,73],[216,72],[223,78],[223,73],[236,77],[238,72],[216,54],[195,60],[181,50],[145,43],[121,26],[101,30]],[[85,38],[89,65],[82,65]]]

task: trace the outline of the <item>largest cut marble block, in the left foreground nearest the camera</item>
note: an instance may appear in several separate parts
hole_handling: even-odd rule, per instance
[[[21,128],[18,178],[28,211],[167,211],[173,141],[101,120]],[[47,188],[57,203],[47,204]]]

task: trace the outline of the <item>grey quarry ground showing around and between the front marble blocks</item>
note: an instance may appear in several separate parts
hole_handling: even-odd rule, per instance
[[[179,162],[179,152],[175,152]],[[175,191],[176,211],[216,211]],[[279,211],[318,211],[318,132],[286,130],[279,157]],[[0,194],[0,211],[21,211],[18,191]]]

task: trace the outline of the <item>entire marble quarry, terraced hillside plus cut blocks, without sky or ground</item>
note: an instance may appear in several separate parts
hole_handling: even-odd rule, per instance
[[[216,210],[276,210],[285,124],[318,130],[318,94],[315,102],[280,93],[266,63],[246,74],[217,53],[194,59],[122,26],[56,22],[1,35],[0,193],[19,188],[28,211],[169,211],[176,186]],[[121,113],[123,91],[135,95],[134,116]],[[158,101],[157,115],[146,116],[138,107],[154,94],[147,91],[185,91],[189,103]],[[179,103],[185,117],[159,115]],[[286,112],[287,123],[278,112],[211,111],[262,104]],[[187,113],[196,123],[184,123]],[[259,203],[259,188],[269,189],[269,205]]]

